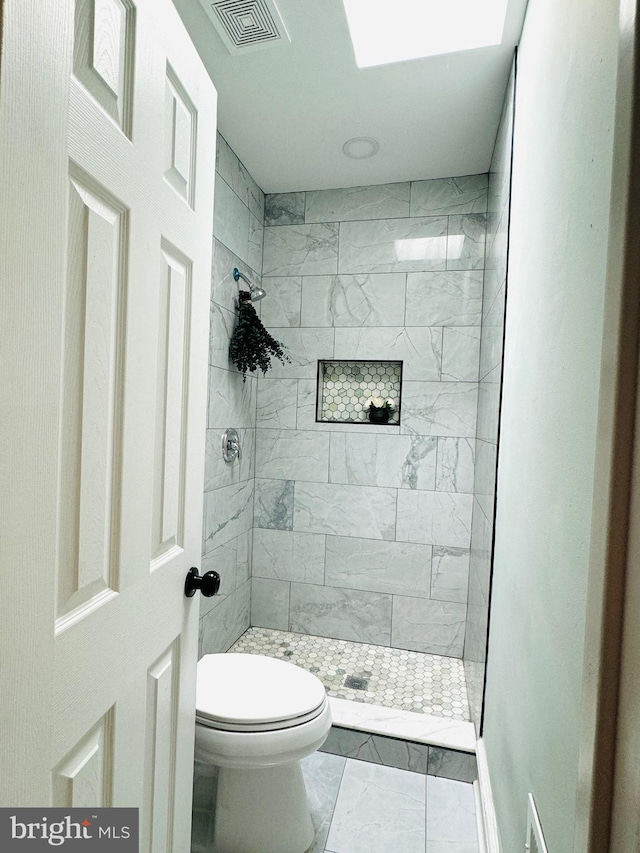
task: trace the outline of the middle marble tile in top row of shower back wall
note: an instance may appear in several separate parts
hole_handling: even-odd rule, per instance
[[[379,184],[307,192],[305,222],[345,222],[409,216],[409,184]]]

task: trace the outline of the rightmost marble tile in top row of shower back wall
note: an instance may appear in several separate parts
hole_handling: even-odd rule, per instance
[[[488,175],[411,183],[411,216],[486,213]]]

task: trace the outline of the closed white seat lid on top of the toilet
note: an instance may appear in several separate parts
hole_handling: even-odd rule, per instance
[[[290,720],[314,711],[325,695],[313,673],[276,658],[232,653],[198,661],[196,714],[211,720]]]

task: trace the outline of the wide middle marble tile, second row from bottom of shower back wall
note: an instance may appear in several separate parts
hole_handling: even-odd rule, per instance
[[[429,598],[431,546],[327,536],[325,584]]]

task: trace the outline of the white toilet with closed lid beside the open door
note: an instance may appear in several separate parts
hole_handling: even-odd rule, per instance
[[[218,768],[211,853],[305,853],[314,829],[300,759],[330,728],[313,673],[263,655],[201,658],[195,757]]]

